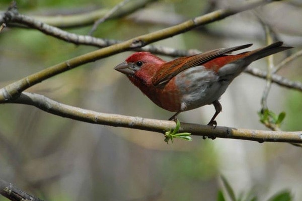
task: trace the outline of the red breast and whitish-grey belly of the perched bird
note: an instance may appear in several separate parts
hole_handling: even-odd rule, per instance
[[[212,104],[225,91],[227,84],[219,81],[215,71],[195,66],[180,72],[162,87],[152,83],[136,86],[159,107],[182,112]]]

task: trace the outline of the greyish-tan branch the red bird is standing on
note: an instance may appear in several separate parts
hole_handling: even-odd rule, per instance
[[[92,124],[101,124],[114,127],[126,127],[146,131],[165,133],[175,129],[176,123],[173,121],[145,119],[142,117],[129,117],[123,115],[98,113],[77,107],[58,103],[46,96],[22,92],[12,103],[35,106],[47,113],[70,118]],[[196,136],[207,136],[209,138],[231,138],[243,139],[257,142],[291,142],[302,143],[302,131],[281,132],[281,131],[261,131],[247,130],[217,126],[181,123],[179,132],[189,132]]]

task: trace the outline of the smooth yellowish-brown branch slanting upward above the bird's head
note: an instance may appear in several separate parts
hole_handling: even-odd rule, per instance
[[[228,8],[228,9],[222,9],[218,10],[209,14],[206,14],[201,17],[196,17],[192,20],[186,21],[184,23],[181,23],[176,26],[172,26],[163,30],[159,30],[150,34],[145,34],[142,36],[138,36],[135,38],[132,38],[128,41],[115,44],[103,49],[99,49],[75,58],[72,58],[68,61],[59,63],[57,65],[51,66],[45,70],[42,70],[40,72],[34,73],[32,75],[29,75],[19,81],[16,81],[0,91],[0,103],[8,102],[8,100],[15,98],[18,96],[22,91],[25,89],[49,78],[54,75],[57,75],[59,73],[62,73],[64,71],[70,70],[72,68],[78,67],[80,65],[83,65],[85,63],[93,62],[98,59],[111,56],[113,54],[139,48],[142,46],[145,46],[149,43],[153,43],[155,41],[163,40],[172,36],[175,36],[177,34],[186,32],[188,30],[191,30],[195,27],[208,24],[210,22],[214,22],[217,20],[221,20],[223,18],[226,18],[228,16],[234,15],[238,12],[242,12],[248,9],[256,8],[260,5],[265,5],[272,2],[267,0],[253,0],[248,1],[244,4],[242,4],[239,7],[236,8]],[[8,17],[9,19],[13,20],[12,16]],[[46,26],[43,23],[40,23],[39,26]],[[48,26],[48,25],[47,25]]]

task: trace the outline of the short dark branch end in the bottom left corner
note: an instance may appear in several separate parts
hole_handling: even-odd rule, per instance
[[[42,199],[39,199],[26,193],[20,190],[19,188],[15,187],[12,183],[6,182],[2,179],[0,179],[0,194],[13,201],[42,201]]]

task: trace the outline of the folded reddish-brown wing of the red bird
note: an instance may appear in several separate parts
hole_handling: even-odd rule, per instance
[[[152,83],[154,84],[154,86],[162,86],[163,84],[169,82],[169,80],[172,79],[175,75],[188,68],[201,65],[222,54],[241,50],[250,46],[252,46],[252,44],[210,50],[190,57],[180,57],[178,59],[165,63],[162,68],[155,74],[154,78],[152,79]]]

